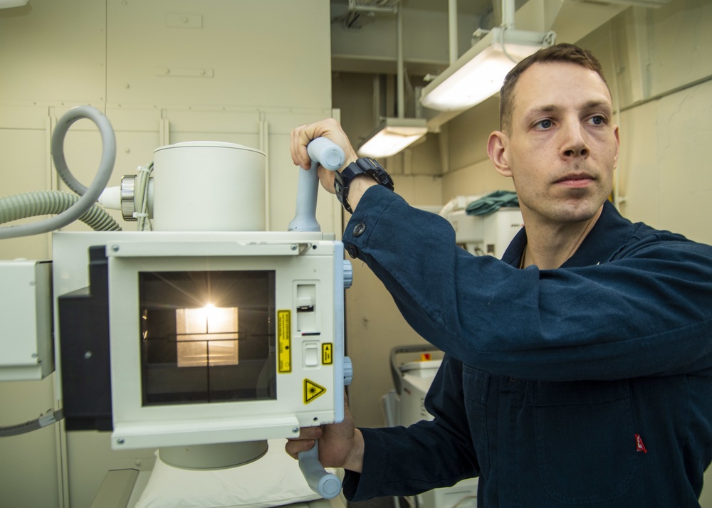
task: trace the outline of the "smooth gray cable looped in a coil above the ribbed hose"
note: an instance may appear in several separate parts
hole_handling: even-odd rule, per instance
[[[80,120],[87,118],[95,123],[101,134],[102,153],[99,169],[92,183],[87,188],[80,184],[72,175],[64,158],[64,138],[69,130],[69,127]],[[70,223],[76,221],[80,216],[88,211],[95,204],[96,200],[105,189],[111,177],[111,172],[114,169],[114,161],[116,159],[116,138],[114,130],[109,123],[109,120],[102,112],[91,106],[77,106],[70,109],[60,118],[52,134],[52,158],[57,168],[58,173],[65,183],[80,194],[81,197],[65,211],[57,216],[47,218],[43,221],[37,221],[30,224],[22,224],[20,226],[5,226],[0,228],[0,240],[4,238],[19,238],[21,236],[32,236],[41,233],[49,233],[59,228],[63,228]]]

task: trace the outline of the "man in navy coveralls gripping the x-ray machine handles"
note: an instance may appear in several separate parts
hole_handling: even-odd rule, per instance
[[[480,477],[479,507],[698,507],[712,459],[712,247],[622,218],[607,201],[618,127],[600,64],[560,44],[526,58],[501,92],[488,154],[511,177],[525,228],[496,260],[456,247],[444,219],[368,175],[351,255],[446,357],[432,422],[303,429],[345,467],[348,499],[407,495]],[[292,157],[333,120],[295,129]],[[320,179],[333,188],[333,174]],[[337,189],[339,186],[337,185]]]

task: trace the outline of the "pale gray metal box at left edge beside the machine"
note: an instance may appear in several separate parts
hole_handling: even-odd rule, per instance
[[[54,370],[51,272],[49,261],[0,261],[0,381]]]

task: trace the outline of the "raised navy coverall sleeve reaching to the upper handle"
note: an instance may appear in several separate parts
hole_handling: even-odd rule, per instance
[[[573,381],[711,369],[712,248],[665,232],[636,238],[634,226],[600,264],[518,270],[467,253],[444,218],[375,186],[344,243],[416,332],[490,374]]]

